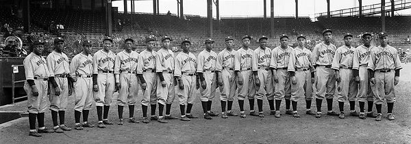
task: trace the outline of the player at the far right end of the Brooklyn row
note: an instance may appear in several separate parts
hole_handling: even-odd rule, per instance
[[[381,121],[381,107],[386,99],[388,107],[389,120],[394,120],[393,108],[395,102],[394,85],[399,83],[399,70],[401,70],[401,61],[397,49],[388,45],[388,33],[380,32],[379,45],[371,49],[368,70],[370,72],[371,89],[374,92],[375,109],[377,109],[377,118],[375,121]]]

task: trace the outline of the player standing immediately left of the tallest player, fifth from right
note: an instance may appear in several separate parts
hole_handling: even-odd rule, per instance
[[[300,117],[297,112],[297,102],[300,96],[306,99],[306,114],[314,115],[311,111],[312,101],[312,75],[314,68],[311,64],[311,51],[305,47],[306,36],[301,34],[297,36],[298,46],[290,53],[288,62],[288,72],[290,73],[291,85],[291,104],[293,117]]]

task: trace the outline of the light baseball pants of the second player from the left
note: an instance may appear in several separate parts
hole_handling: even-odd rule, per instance
[[[69,83],[67,78],[54,77],[54,80],[60,88],[60,95],[55,96],[55,88],[50,85],[50,110],[66,111],[69,100]]]

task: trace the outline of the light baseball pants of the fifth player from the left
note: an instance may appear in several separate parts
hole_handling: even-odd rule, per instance
[[[124,106],[126,103],[128,105],[136,104],[138,94],[137,75],[128,72],[121,72],[120,85],[121,88],[119,91],[119,96],[117,96],[117,104],[119,106]]]

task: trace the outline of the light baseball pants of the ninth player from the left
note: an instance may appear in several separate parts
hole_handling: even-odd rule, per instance
[[[200,87],[201,102],[208,102],[216,96],[216,72],[210,72],[207,70],[203,72],[204,81],[206,81],[206,89]],[[201,83],[200,83],[201,84]]]

